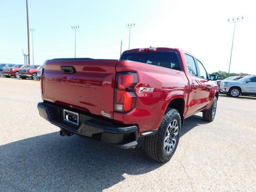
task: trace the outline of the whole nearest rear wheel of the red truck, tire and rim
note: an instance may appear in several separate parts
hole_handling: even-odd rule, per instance
[[[149,158],[157,162],[169,161],[180,139],[181,118],[176,109],[167,108],[156,134],[146,136],[144,147]]]

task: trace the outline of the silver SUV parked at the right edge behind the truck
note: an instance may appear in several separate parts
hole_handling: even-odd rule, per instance
[[[256,75],[245,76],[237,81],[220,82],[220,92],[231,97],[242,95],[256,95]]]

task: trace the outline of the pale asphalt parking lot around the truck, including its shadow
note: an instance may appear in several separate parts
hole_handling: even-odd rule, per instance
[[[215,120],[185,120],[159,164],[136,149],[59,136],[40,118],[39,80],[0,78],[0,191],[256,191],[256,97],[220,95]]]

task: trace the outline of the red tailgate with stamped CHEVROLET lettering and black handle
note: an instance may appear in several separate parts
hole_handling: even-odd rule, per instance
[[[116,63],[117,60],[48,60],[41,80],[42,99],[113,118]]]

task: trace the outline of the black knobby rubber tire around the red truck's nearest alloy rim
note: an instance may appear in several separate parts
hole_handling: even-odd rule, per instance
[[[168,126],[173,120],[177,121],[178,134],[176,136],[176,142],[174,147],[170,150],[169,153],[167,153],[166,150],[164,149],[165,138],[166,138],[166,133],[168,131]],[[180,132],[181,132],[181,118],[180,118],[179,112],[176,109],[167,108],[156,134],[151,136],[146,136],[144,139],[144,148],[146,150],[147,156],[161,163],[169,161],[172,158],[178,146],[178,142],[180,139]]]

